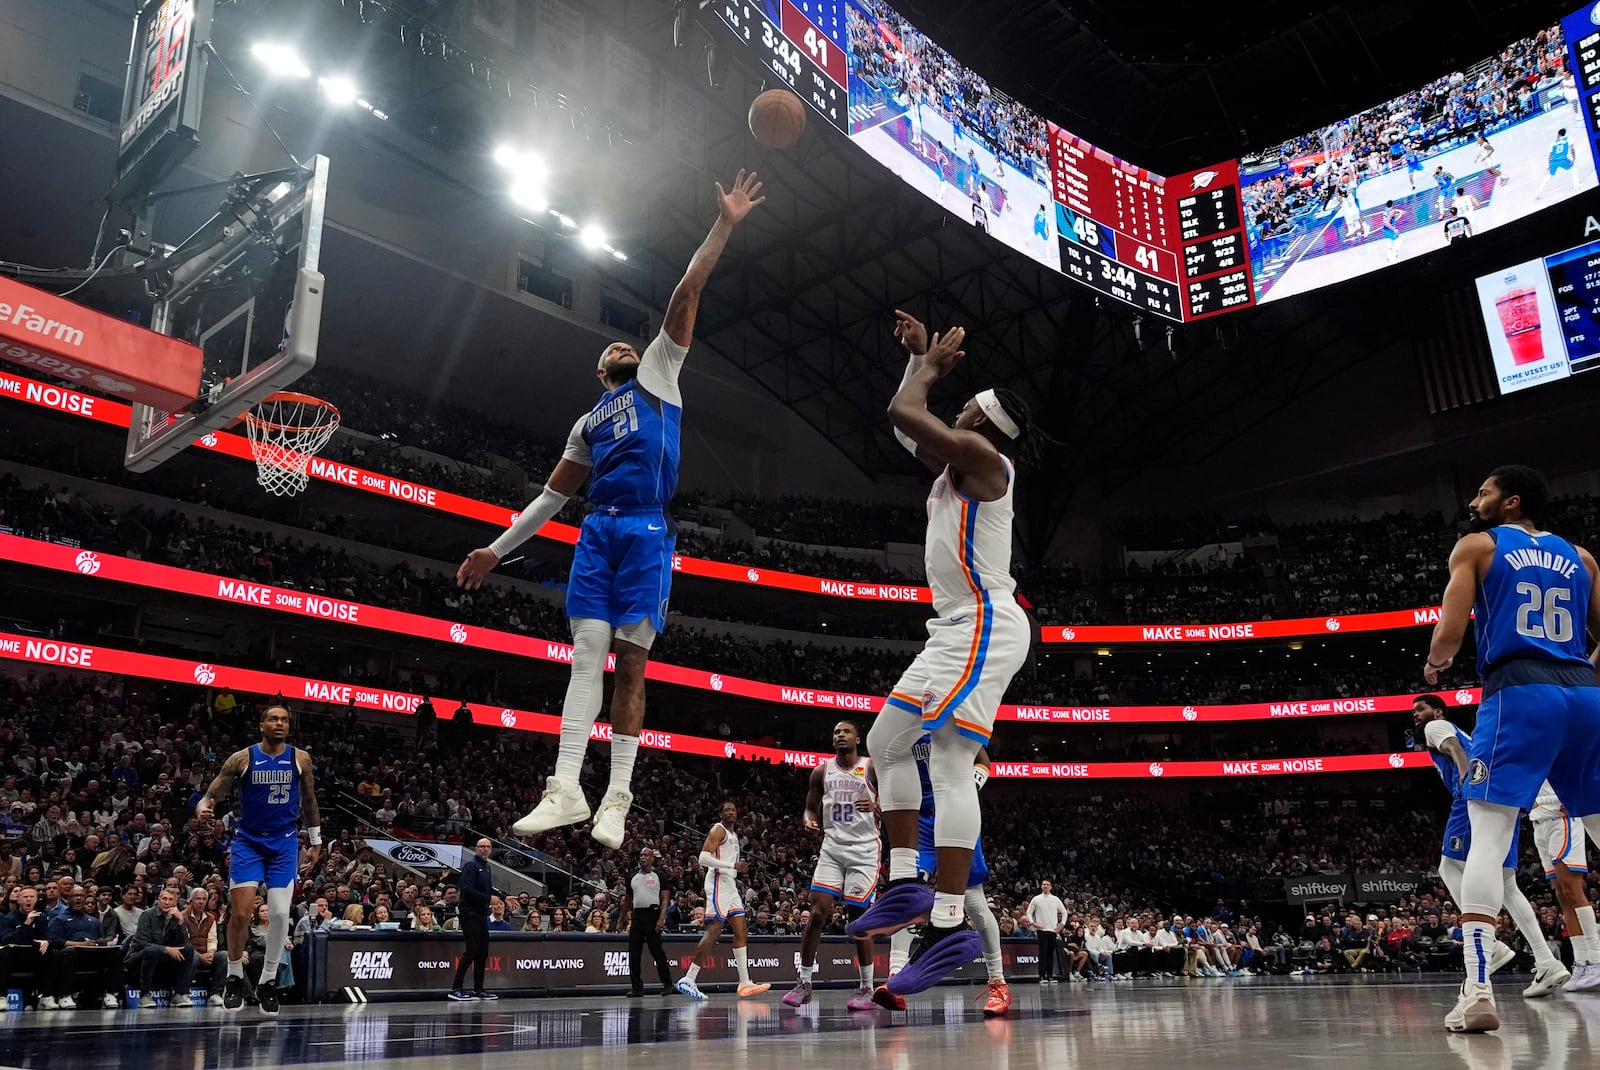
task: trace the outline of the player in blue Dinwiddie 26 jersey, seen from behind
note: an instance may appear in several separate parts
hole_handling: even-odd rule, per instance
[[[1525,465],[1494,469],[1472,499],[1478,531],[1450,553],[1450,584],[1424,678],[1450,669],[1475,617],[1483,702],[1462,793],[1472,844],[1461,878],[1467,977],[1445,1028],[1499,1028],[1490,987],[1494,918],[1504,897],[1501,862],[1546,781],[1600,843],[1600,681],[1587,632],[1600,635],[1595,560],[1539,528],[1544,477]]]

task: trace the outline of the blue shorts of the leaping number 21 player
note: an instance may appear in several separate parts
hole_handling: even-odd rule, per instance
[[[677,525],[659,510],[586,517],[566,582],[568,619],[613,629],[648,619],[664,632],[677,541]]]

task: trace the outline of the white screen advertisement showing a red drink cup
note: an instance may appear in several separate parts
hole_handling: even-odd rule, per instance
[[[1571,374],[1542,259],[1478,278],[1478,304],[1501,393]]]

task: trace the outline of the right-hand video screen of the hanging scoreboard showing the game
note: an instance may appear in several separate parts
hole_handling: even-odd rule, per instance
[[[1256,301],[1381,270],[1594,189],[1570,64],[1562,27],[1550,26],[1243,157]]]

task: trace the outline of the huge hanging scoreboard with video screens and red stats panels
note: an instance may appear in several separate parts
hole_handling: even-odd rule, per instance
[[[954,218],[1174,323],[1334,285],[1597,186],[1600,5],[1416,93],[1162,176],[1046,122],[886,0],[717,0],[773,78]],[[1517,178],[1512,182],[1512,176]]]

